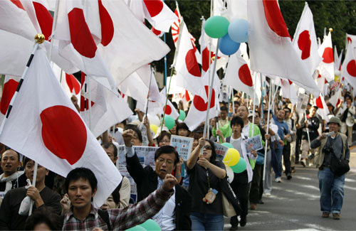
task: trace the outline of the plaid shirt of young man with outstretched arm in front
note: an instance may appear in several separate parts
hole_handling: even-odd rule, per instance
[[[172,194],[173,191],[168,193],[161,187],[151,193],[145,200],[141,200],[140,203],[126,208],[108,210],[111,229],[127,230],[145,222],[161,210]],[[75,218],[72,210],[66,213],[62,230],[93,230],[94,227],[108,230],[108,225],[92,205],[90,214],[83,221]]]

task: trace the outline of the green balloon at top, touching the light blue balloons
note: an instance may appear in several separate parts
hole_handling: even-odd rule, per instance
[[[229,20],[223,16],[212,16],[206,20],[205,33],[211,38],[224,37],[229,28]]]

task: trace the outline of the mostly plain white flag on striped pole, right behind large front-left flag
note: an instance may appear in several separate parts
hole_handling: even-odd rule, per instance
[[[87,77],[85,77],[86,80]],[[89,122],[88,112],[88,93],[83,93],[83,90],[82,96],[80,97],[80,115],[87,125],[91,125],[90,131],[93,132],[95,137],[100,136],[104,131],[133,114],[120,94],[115,95],[112,91],[103,87],[103,85],[100,85],[91,77],[90,91],[92,102],[91,123]],[[85,99],[87,100],[86,104],[84,104]]]

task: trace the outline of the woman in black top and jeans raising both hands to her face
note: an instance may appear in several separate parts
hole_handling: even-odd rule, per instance
[[[203,152],[201,154],[201,149]],[[224,163],[216,161],[214,142],[199,139],[187,161],[189,193],[192,195],[192,230],[223,230],[224,215],[220,179],[226,177]]]

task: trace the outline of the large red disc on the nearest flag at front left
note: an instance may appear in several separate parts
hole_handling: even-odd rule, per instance
[[[46,148],[73,165],[87,144],[87,130],[80,116],[62,105],[47,107],[41,114],[42,139]]]

